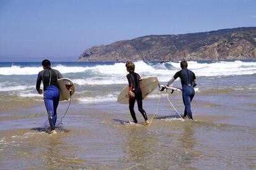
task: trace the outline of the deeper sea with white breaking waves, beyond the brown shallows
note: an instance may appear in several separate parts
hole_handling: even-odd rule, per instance
[[[52,67],[64,78],[76,85],[74,99],[80,103],[115,101],[121,89],[127,86],[124,63],[114,62],[59,62]],[[189,62],[189,69],[198,79],[200,92],[207,91],[254,91],[256,62]],[[28,100],[39,102],[41,95],[35,90],[41,63],[0,63],[0,100],[14,102]],[[178,62],[135,62],[135,71],[140,76],[157,76],[160,84],[166,84],[180,70]],[[175,81],[174,86],[181,86]],[[157,92],[155,92],[156,94]],[[155,95],[150,95],[154,97]]]

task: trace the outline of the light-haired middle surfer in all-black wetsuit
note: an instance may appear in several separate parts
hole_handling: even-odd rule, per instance
[[[132,62],[126,62],[126,70],[129,72],[129,74],[126,76],[128,83],[129,83],[129,110],[130,115],[132,116],[132,119],[134,119],[134,123],[138,123],[135,111],[134,111],[134,104],[135,100],[137,100],[138,109],[140,113],[142,113],[143,118],[145,119],[145,124],[149,124],[147,113],[142,108],[142,91],[140,89],[140,76],[139,74],[134,72],[135,65]]]

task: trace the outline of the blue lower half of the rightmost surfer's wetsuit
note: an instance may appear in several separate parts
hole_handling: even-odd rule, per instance
[[[192,101],[194,95],[195,91],[192,86],[182,86],[182,99],[185,105],[184,117],[188,115],[189,119],[193,119],[190,102]]]

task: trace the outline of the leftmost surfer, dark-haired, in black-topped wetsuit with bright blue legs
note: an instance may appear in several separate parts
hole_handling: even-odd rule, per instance
[[[50,134],[52,134],[56,133],[55,124],[57,120],[57,107],[59,105],[59,85],[57,81],[63,78],[63,76],[58,70],[51,68],[51,62],[49,60],[43,60],[42,67],[43,70],[37,76],[36,91],[39,94],[43,94],[51,127]],[[43,91],[40,89],[41,81],[43,81]]]

